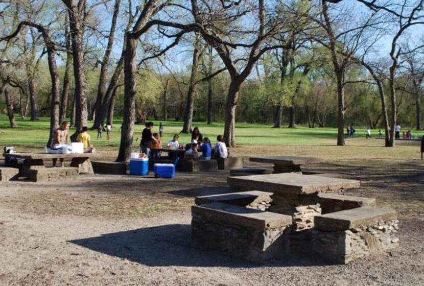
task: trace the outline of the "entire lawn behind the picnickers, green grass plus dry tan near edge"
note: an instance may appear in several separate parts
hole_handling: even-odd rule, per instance
[[[42,147],[49,136],[49,118],[40,118],[37,122],[29,120],[16,120],[18,128],[10,128],[7,116],[0,115],[0,145],[6,146],[32,146]],[[103,139],[97,139],[97,131],[90,130],[92,144],[107,157],[116,156],[117,147],[120,144],[119,127],[122,121],[115,120],[111,133],[111,140],[106,140],[106,132]],[[162,122],[164,125],[164,139],[162,144],[172,139],[173,134],[182,129],[181,122]],[[89,122],[88,127],[91,127]],[[154,132],[157,132],[159,121],[155,122]],[[205,137],[215,143],[216,136],[223,134],[224,124],[218,123],[207,125],[194,123],[199,127]],[[141,137],[143,125],[136,125],[134,139]],[[377,130],[372,130],[372,139],[365,139],[366,129],[356,129],[355,138],[346,140],[345,147],[336,146],[336,128],[307,128],[298,126],[294,129],[271,128],[271,125],[238,123],[235,128],[235,140],[238,148],[231,150],[231,154],[240,156],[251,155],[302,155],[320,157],[326,160],[342,159],[416,159],[419,157],[419,141],[396,141],[396,148],[385,148],[382,139],[375,139]],[[404,129],[406,130],[406,128]],[[72,133],[73,130],[70,131]],[[414,137],[420,137],[424,131],[412,132]],[[190,142],[190,134],[179,134],[180,144]],[[137,149],[138,142],[134,142]]]

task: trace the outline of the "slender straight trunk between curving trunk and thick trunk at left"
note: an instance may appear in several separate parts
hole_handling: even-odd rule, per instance
[[[70,67],[72,65],[72,52],[70,46],[70,35],[69,35],[69,21],[68,14],[65,15],[65,45],[66,45],[66,66],[65,66],[65,75],[63,77],[63,87],[62,87],[62,100],[60,104],[60,118],[59,124],[65,121],[66,118],[66,110],[68,105],[68,94],[69,94],[69,75],[70,75]]]

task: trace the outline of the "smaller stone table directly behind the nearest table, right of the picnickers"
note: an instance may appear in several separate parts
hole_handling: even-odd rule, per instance
[[[274,173],[301,172],[301,165],[319,162],[316,158],[297,156],[250,157],[249,160],[274,164]]]

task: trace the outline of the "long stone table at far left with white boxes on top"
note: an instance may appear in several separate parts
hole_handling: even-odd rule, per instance
[[[44,167],[44,160],[71,159],[70,166],[78,168],[79,174],[94,174],[90,158],[93,153],[82,154],[49,154],[49,153],[4,153],[4,157],[23,159],[21,173],[26,175],[28,170]]]

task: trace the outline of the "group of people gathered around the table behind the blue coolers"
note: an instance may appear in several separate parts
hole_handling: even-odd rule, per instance
[[[140,141],[140,152],[147,155],[149,158],[160,158],[159,149],[162,146],[163,140],[163,125],[159,125],[159,133],[153,133],[152,129],[154,127],[153,122],[147,122],[146,127],[142,132],[142,139]],[[184,146],[181,146],[178,142],[178,134],[174,134],[172,140],[168,141],[168,149],[184,149]],[[212,157],[215,158],[227,158],[228,150],[227,146],[224,143],[224,138],[222,135],[217,136],[217,144],[212,148],[211,142],[208,137],[204,137],[200,133],[199,128],[195,127],[192,132],[191,143],[185,146],[185,156],[192,157],[195,160],[202,159],[208,160]]]

